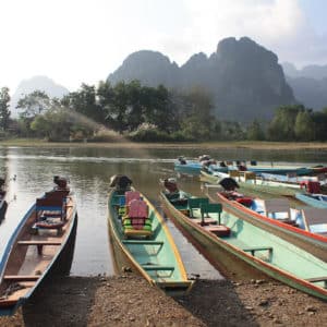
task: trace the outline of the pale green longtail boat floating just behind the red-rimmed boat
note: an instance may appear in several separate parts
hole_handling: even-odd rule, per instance
[[[211,172],[210,170],[206,171],[203,169],[201,170],[199,179],[202,182],[219,184],[221,180],[230,177],[238,182],[241,191],[249,190],[281,196],[295,196],[296,193],[301,192],[300,184],[265,180],[252,171],[231,170],[229,173],[225,173],[218,171]]]

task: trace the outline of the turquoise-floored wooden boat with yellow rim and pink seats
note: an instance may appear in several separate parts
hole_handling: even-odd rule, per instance
[[[140,207],[133,213],[134,204],[142,202],[146,206],[146,217],[137,217],[144,216],[140,215],[143,211]],[[143,194],[112,187],[108,201],[108,227],[117,270],[131,269],[171,295],[191,290],[193,281],[187,279],[164,217]]]

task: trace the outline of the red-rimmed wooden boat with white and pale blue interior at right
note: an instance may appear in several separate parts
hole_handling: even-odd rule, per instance
[[[233,192],[217,192],[211,201],[229,211],[327,262],[327,237],[314,231],[316,225],[307,208],[290,208],[286,198],[261,199]]]

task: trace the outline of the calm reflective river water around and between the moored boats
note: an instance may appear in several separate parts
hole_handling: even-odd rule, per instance
[[[327,152],[320,150],[250,150],[217,149],[206,152],[217,159],[261,160],[318,165],[327,162]],[[133,185],[159,207],[159,179],[175,177],[173,161],[184,155],[195,158],[203,155],[193,149],[126,149],[81,147],[0,147],[0,171],[8,180],[9,207],[0,226],[0,256],[14,228],[26,210],[44,192],[52,186],[53,175],[68,177],[74,191],[78,227],[71,275],[112,275],[107,228],[107,192],[110,177],[129,175]],[[179,179],[181,189],[201,194],[196,177]],[[219,272],[190,244],[181,232],[168,221],[184,261],[187,274],[202,278],[220,278]]]

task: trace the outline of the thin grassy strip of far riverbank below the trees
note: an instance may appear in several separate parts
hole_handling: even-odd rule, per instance
[[[135,143],[135,142],[104,142],[104,143],[58,143],[46,142],[41,140],[14,138],[1,141],[0,146],[22,146],[22,147],[107,147],[107,148],[202,148],[223,149],[223,148],[249,148],[249,149],[267,149],[267,150],[299,150],[299,149],[327,149],[327,143],[319,142],[205,142],[205,143]]]

